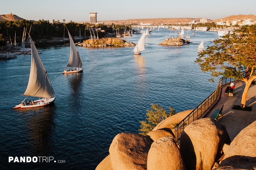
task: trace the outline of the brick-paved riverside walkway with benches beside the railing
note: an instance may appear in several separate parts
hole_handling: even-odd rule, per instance
[[[230,140],[232,141],[242,129],[247,127],[250,123],[256,121],[256,85],[252,84],[250,86],[246,97],[246,106],[252,107],[252,111],[232,109],[234,105],[240,106],[245,82],[236,82],[233,97],[224,93],[226,87],[227,86],[222,87],[219,101],[213,106],[213,108],[211,108],[207,114],[205,114],[204,117],[210,117],[214,109],[220,109],[222,105],[224,105],[222,110],[222,117],[219,117],[218,122],[226,127]]]

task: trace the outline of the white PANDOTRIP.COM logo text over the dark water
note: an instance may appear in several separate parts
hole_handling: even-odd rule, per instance
[[[65,160],[55,160],[54,157],[9,157],[9,163],[65,163]]]

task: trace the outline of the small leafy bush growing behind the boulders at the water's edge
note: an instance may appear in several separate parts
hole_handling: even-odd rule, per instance
[[[139,121],[141,123],[139,131],[140,134],[146,135],[148,132],[152,131],[158,123],[163,121],[164,119],[176,114],[174,108],[169,107],[170,112],[167,113],[163,107],[158,104],[151,103],[151,110],[147,110],[146,120]]]

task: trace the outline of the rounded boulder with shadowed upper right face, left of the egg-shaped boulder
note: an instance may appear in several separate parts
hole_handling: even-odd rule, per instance
[[[113,170],[146,170],[152,141],[137,133],[119,133],[109,147]]]

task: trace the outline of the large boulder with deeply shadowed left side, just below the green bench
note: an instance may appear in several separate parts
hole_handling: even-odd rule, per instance
[[[211,170],[222,155],[224,143],[230,143],[226,128],[212,118],[193,121],[180,138],[180,151],[188,170]]]

